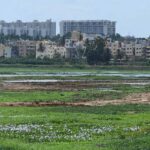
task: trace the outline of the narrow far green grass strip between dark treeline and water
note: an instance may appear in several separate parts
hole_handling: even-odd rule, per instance
[[[37,66],[37,65],[1,65],[1,74],[13,74],[16,72],[46,72],[46,73],[58,73],[58,72],[91,72],[91,73],[150,73],[149,68],[140,67],[130,68],[128,67],[117,67],[117,66]]]

